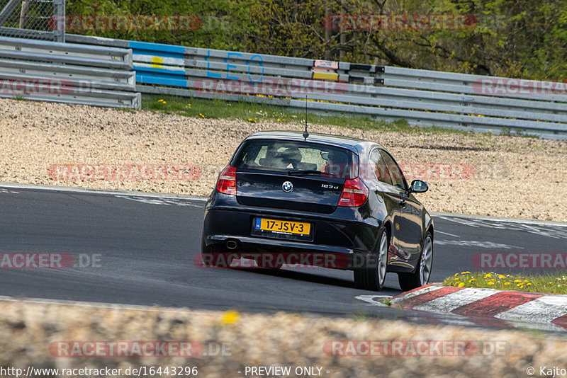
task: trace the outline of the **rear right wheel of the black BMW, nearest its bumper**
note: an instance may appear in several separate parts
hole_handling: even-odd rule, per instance
[[[376,264],[371,264],[370,268],[354,269],[354,285],[358,289],[378,291],[384,287],[386,280],[386,268],[388,264],[388,249],[390,238],[386,229],[381,231],[378,236],[378,243],[374,247]]]

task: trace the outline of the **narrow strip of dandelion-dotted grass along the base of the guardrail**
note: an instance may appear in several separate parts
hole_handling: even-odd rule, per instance
[[[144,95],[142,96],[142,109],[163,113],[176,113],[185,115],[186,117],[228,118],[252,123],[303,123],[305,118],[305,113],[301,110],[293,111],[289,110],[289,108],[276,105],[223,101],[220,99],[206,100],[179,96]],[[386,122],[383,120],[373,120],[372,118],[361,115],[350,114],[318,115],[308,113],[307,120],[310,124],[350,127],[361,130],[475,135],[473,132],[444,129],[442,127],[414,127],[409,125],[406,120]]]

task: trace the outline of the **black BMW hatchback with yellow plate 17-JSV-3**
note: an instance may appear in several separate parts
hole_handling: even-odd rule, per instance
[[[257,132],[242,141],[208,198],[203,264],[225,256],[228,265],[245,257],[269,268],[348,269],[366,290],[380,290],[394,272],[402,290],[420,287],[430,278],[433,222],[413,193],[427,189],[419,180],[408,185],[380,144]]]

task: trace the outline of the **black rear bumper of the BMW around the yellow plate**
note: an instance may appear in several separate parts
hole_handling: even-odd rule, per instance
[[[215,195],[216,194],[216,195]],[[203,225],[206,246],[237,242],[235,253],[332,253],[345,256],[371,254],[381,222],[362,217],[360,209],[339,207],[331,214],[249,207],[235,196],[215,193],[207,203]],[[220,202],[220,205],[219,205]],[[269,217],[312,225],[310,241],[252,234],[254,219]],[[358,219],[358,220],[353,220]],[[350,258],[349,258],[350,260]]]

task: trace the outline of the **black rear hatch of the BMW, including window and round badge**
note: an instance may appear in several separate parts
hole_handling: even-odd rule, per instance
[[[327,144],[252,139],[232,160],[237,200],[242,205],[331,213],[344,181],[356,176],[357,162],[352,151]]]

